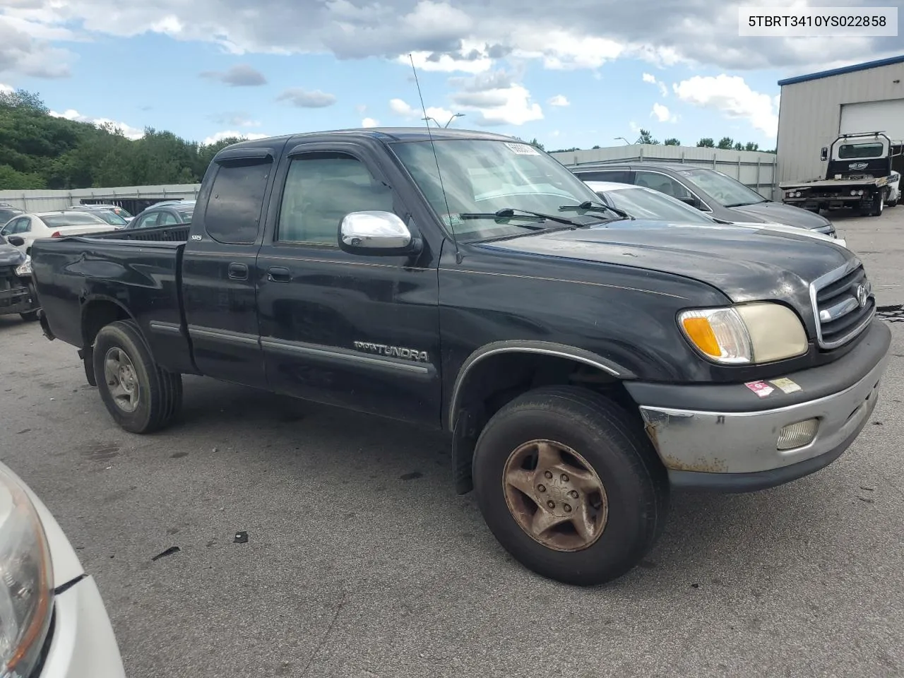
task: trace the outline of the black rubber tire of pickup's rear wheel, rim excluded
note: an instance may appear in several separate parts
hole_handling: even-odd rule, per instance
[[[104,364],[113,350],[125,353],[137,384],[137,406],[128,411],[117,404]],[[154,363],[144,338],[131,320],[120,320],[103,327],[94,342],[94,377],[100,398],[110,416],[131,433],[152,433],[169,425],[182,407],[182,375],[169,372]]]

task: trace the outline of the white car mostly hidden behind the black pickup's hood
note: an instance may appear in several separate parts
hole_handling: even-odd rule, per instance
[[[834,238],[831,235],[817,233],[797,226],[788,226],[785,223],[759,223],[753,221],[722,221],[711,217],[706,212],[681,202],[671,195],[656,191],[636,184],[618,184],[616,182],[584,182],[600,200],[609,207],[627,212],[636,219],[655,219],[662,221],[674,221],[676,223],[702,223],[708,226],[741,226],[757,231],[782,231],[794,235],[816,240],[828,240],[842,247],[847,247],[843,238]]]

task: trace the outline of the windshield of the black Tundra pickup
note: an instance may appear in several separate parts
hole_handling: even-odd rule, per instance
[[[533,146],[484,139],[443,139],[434,144],[442,188],[437,159],[429,141],[400,142],[391,147],[430,206],[455,230],[458,239],[518,235],[531,232],[538,225],[536,221],[523,220],[463,220],[459,217],[462,213],[490,213],[510,208],[567,216],[580,224],[598,223],[610,216],[560,212],[563,205],[599,202],[599,197],[577,176]],[[542,227],[557,225],[560,226],[545,221]]]

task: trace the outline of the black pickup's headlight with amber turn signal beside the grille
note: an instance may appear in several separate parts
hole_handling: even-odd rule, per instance
[[[757,302],[678,314],[691,345],[713,363],[772,363],[807,351],[804,325],[787,306]]]

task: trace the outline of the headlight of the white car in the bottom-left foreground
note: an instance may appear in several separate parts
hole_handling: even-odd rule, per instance
[[[0,675],[27,676],[53,610],[47,536],[24,489],[0,472]]]

